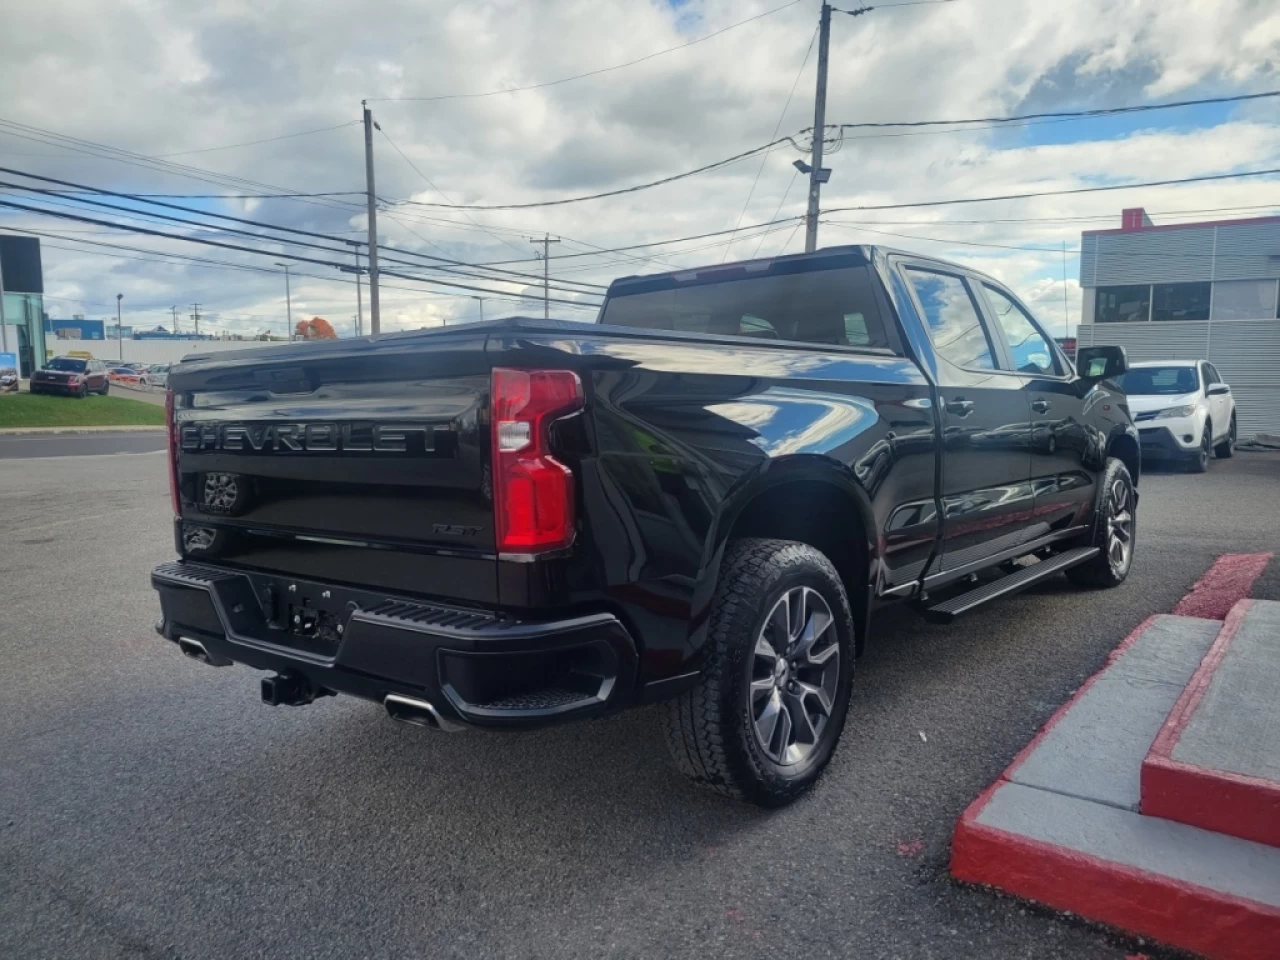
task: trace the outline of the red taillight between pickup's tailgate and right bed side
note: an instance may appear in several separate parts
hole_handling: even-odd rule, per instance
[[[499,553],[573,540],[573,474],[550,456],[552,420],[582,406],[572,370],[493,371],[493,513]]]

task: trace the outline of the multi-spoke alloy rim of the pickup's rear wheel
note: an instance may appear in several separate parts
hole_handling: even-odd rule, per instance
[[[756,742],[787,767],[822,741],[840,682],[840,639],[831,607],[809,586],[778,598],[755,637],[749,707]]]

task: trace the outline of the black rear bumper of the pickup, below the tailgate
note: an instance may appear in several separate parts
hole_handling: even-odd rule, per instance
[[[385,703],[425,700],[449,723],[529,728],[630,704],[636,648],[608,613],[522,621],[196,563],[151,573],[160,634],[216,660]],[[291,589],[292,588],[292,589]],[[321,627],[296,632],[293,618]]]

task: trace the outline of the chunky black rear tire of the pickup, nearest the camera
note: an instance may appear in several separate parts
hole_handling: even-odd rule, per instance
[[[829,626],[818,631],[819,637],[809,649],[810,654],[818,652],[814,659],[827,663],[818,682],[829,700],[829,712],[824,710],[822,694],[810,690],[815,676],[805,673],[818,667],[805,666],[810,660],[794,650],[794,644],[782,655],[767,654],[774,657],[777,669],[765,669],[763,677],[756,673],[762,664],[758,644],[768,648],[768,637],[778,636],[781,621],[773,614],[786,598],[796,595],[801,604],[812,604],[800,607],[804,622],[809,622],[806,611],[820,611],[823,604],[831,614]],[[790,621],[786,612],[781,617]],[[786,640],[780,643],[785,645]],[[835,671],[829,664],[831,648],[837,657]],[[767,666],[769,660],[763,663]],[[760,806],[791,803],[813,786],[831,760],[849,712],[852,668],[854,618],[831,561],[809,544],[794,540],[730,541],[712,607],[701,681],[667,705],[667,742],[676,765],[695,783],[726,796]],[[768,682],[773,689],[760,694],[760,685]],[[799,699],[795,692],[786,692],[795,691],[797,685],[809,691]],[[760,716],[756,716],[758,701]],[[817,721],[805,704],[818,708]],[[768,740],[781,742],[777,753],[782,762],[771,755],[759,732],[759,724],[765,722],[763,714],[771,708],[774,728]],[[796,709],[803,710],[805,728],[814,733],[808,744],[799,742],[800,728],[792,719]],[[774,732],[780,732],[781,740]],[[791,732],[797,735],[794,749],[786,745]]]

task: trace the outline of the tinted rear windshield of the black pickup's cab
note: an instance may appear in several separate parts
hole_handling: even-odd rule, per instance
[[[673,282],[609,294],[602,324],[648,330],[888,347],[868,268],[841,266],[718,282]]]

